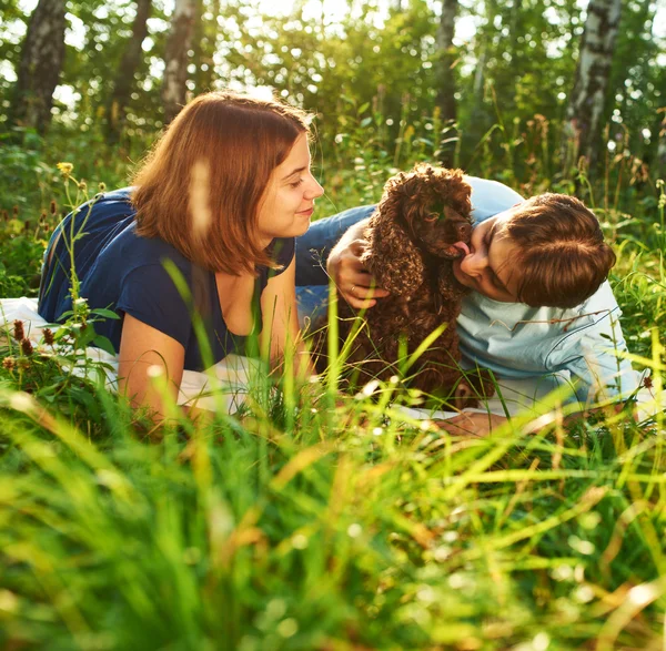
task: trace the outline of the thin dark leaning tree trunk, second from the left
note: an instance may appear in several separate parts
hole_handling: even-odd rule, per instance
[[[150,17],[152,0],[137,0],[137,16],[132,24],[132,37],[125,44],[125,50],[120,62],[120,68],[113,84],[113,92],[107,110],[107,130],[113,141],[125,122],[125,112],[130,103],[134,77],[141,63],[143,50],[141,45],[148,37],[148,19]]]

